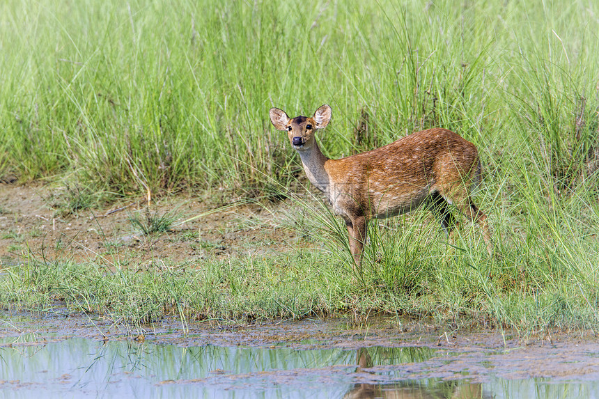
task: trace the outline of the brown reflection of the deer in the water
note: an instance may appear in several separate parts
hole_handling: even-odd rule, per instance
[[[368,348],[357,350],[357,373],[368,373],[374,363]],[[418,382],[399,382],[394,384],[355,384],[345,393],[347,399],[475,399],[483,398],[482,384],[470,384],[463,381],[442,381],[436,385],[421,386]]]

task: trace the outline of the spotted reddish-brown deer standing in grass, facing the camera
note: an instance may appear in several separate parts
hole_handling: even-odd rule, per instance
[[[465,214],[481,227],[492,256],[487,216],[472,201],[482,176],[479,151],[473,143],[436,127],[375,150],[329,159],[320,151],[315,135],[331,120],[329,105],[322,105],[311,117],[289,118],[278,108],[270,109],[269,115],[277,130],[287,131],[308,180],[325,194],[334,214],[345,221],[354,269],[361,265],[368,221],[395,217],[421,206],[433,212],[447,235],[456,225],[451,206]]]

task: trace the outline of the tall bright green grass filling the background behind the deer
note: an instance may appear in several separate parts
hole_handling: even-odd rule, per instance
[[[311,114],[325,102],[334,118],[321,139],[334,157],[356,150],[366,112],[379,145],[448,127],[479,144],[490,169],[498,153],[517,154],[560,191],[596,169],[585,164],[597,150],[592,3],[0,7],[0,172],[22,181],[267,189],[256,171],[286,182],[297,169],[267,110]]]

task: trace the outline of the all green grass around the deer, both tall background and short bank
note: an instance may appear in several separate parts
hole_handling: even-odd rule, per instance
[[[88,187],[70,212],[96,192],[287,198],[297,228],[332,244],[147,273],[32,259],[6,269],[1,302],[138,322],[386,311],[596,328],[598,15],[585,1],[5,1],[0,178]],[[299,159],[267,115],[324,103],[329,157],[433,126],[479,146],[498,256],[417,212],[373,223],[352,273],[344,226],[295,198]]]

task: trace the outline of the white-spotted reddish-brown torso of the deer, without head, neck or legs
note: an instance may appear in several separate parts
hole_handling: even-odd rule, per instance
[[[340,214],[394,216],[417,208],[442,187],[469,184],[478,157],[474,144],[450,130],[416,132],[375,150],[329,159],[329,201]]]

